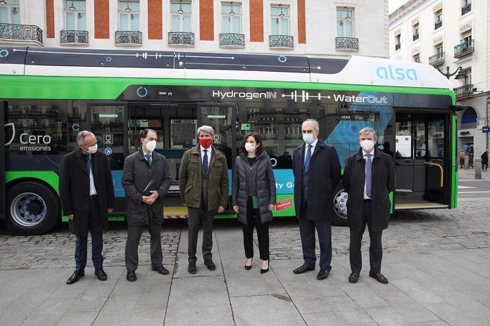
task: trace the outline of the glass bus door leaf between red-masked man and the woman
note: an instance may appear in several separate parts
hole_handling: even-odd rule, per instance
[[[215,135],[213,146],[226,157],[228,165],[229,190],[232,189],[232,169],[237,157],[237,105],[235,103],[199,103],[197,121],[199,126],[212,126]],[[225,207],[225,214],[234,214],[231,203]]]

